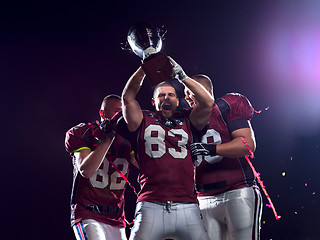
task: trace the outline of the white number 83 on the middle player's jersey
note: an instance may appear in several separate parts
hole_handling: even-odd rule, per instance
[[[187,157],[188,134],[183,129],[171,129],[168,131],[168,137],[181,136],[177,141],[180,151],[174,148],[168,148],[169,154],[174,158]],[[144,132],[146,154],[151,158],[160,158],[166,153],[166,131],[160,125],[150,124]]]

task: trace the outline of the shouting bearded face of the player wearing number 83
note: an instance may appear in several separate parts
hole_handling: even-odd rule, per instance
[[[152,104],[163,117],[170,118],[179,105],[179,98],[173,87],[161,86],[154,92]]]

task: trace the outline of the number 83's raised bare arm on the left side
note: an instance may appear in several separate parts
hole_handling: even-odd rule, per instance
[[[143,115],[136,96],[140,90],[145,73],[141,67],[129,78],[122,91],[122,112],[128,129],[134,132],[140,126]]]

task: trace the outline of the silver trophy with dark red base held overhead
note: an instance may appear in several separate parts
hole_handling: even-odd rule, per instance
[[[132,26],[127,35],[127,45],[142,59],[141,66],[152,85],[171,78],[172,65],[167,55],[161,52],[165,33],[164,27],[159,29],[142,22]]]

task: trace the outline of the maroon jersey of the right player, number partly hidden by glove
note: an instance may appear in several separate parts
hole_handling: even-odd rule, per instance
[[[221,144],[232,140],[231,132],[249,127],[253,108],[246,97],[230,93],[216,100],[203,143]],[[210,196],[255,184],[254,174],[245,158],[197,156],[198,196]]]

